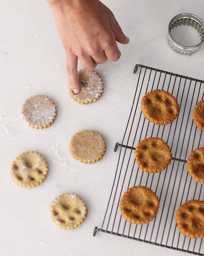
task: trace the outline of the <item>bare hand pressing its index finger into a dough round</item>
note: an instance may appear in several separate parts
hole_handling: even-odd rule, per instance
[[[117,61],[121,52],[116,41],[129,43],[115,16],[99,0],[47,0],[55,17],[66,52],[69,86],[80,93],[78,59],[85,70]]]

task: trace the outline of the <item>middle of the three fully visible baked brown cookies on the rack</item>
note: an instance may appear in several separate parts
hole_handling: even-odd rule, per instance
[[[141,170],[161,172],[171,163],[172,153],[164,140],[145,138],[135,148],[135,159]]]

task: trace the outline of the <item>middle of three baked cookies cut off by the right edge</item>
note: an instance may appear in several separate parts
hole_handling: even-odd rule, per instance
[[[196,148],[188,158],[187,170],[195,181],[204,183],[204,147]]]

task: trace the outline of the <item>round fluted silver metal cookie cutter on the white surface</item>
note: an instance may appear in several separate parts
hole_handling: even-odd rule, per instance
[[[171,30],[174,29],[174,27],[177,27],[178,25],[189,25],[195,27],[195,29],[198,31],[201,37],[200,43],[193,46],[184,46],[176,43],[171,37]],[[169,22],[167,39],[170,47],[175,52],[184,55],[191,55],[192,53],[196,52],[204,42],[204,22],[202,21],[201,18],[197,17],[194,14],[177,14]]]

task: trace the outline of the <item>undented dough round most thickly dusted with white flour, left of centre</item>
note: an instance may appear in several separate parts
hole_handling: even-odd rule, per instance
[[[57,116],[54,102],[44,95],[34,95],[27,99],[21,109],[22,117],[35,129],[49,127]]]

